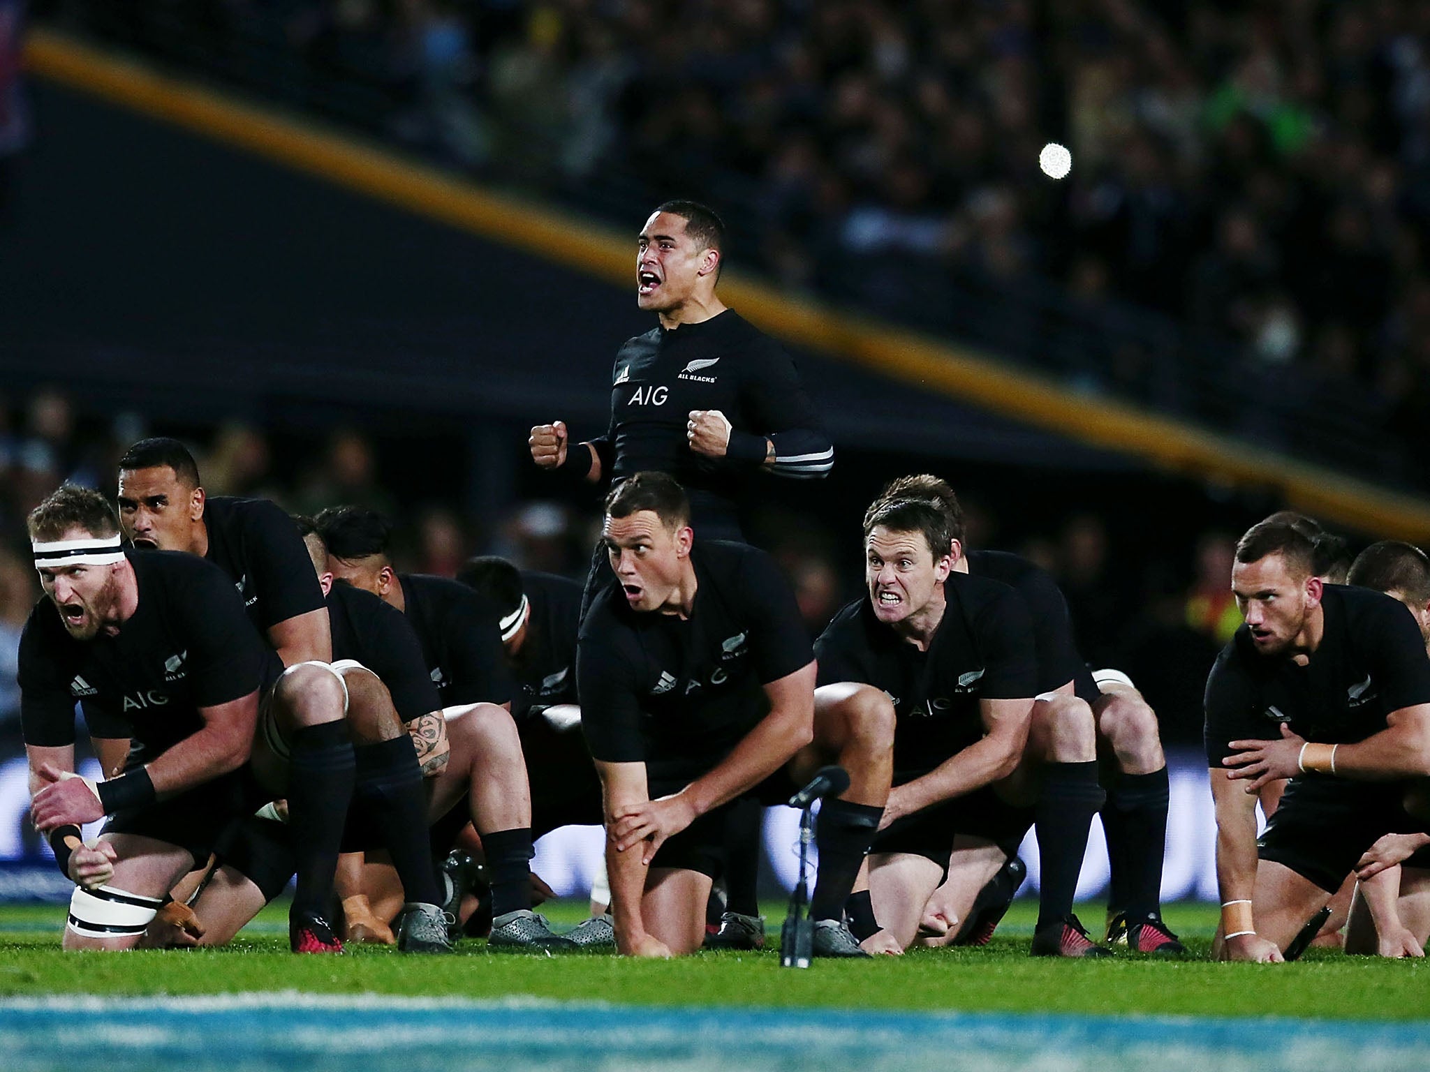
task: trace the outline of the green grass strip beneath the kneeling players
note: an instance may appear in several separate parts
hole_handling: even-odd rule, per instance
[[[545,909],[573,925],[576,903]],[[769,906],[774,936],[782,906]],[[1311,951],[1294,965],[1221,965],[1205,959],[1216,909],[1173,905],[1168,923],[1193,958],[1120,952],[1111,961],[1034,961],[1035,908],[1014,905],[985,949],[914,951],[875,962],[779,968],[774,952],[701,953],[638,962],[602,953],[562,958],[490,955],[465,941],[456,956],[410,958],[355,948],[336,958],[286,949],[286,913],[272,906],[226,949],[73,955],[59,948],[63,908],[0,908],[0,995],[192,995],[253,991],[509,998],[526,995],[651,1006],[878,1008],[1104,1015],[1298,1016],[1369,1021],[1430,1018],[1424,961],[1347,958]],[[1101,909],[1088,905],[1088,923]]]

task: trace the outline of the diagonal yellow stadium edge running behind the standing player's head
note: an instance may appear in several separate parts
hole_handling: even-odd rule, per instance
[[[277,107],[236,100],[44,27],[30,31],[26,64],[41,77],[409,212],[606,282],[629,282],[631,234],[548,204],[480,189]],[[794,297],[736,273],[724,290],[742,314],[789,343],[1093,446],[1141,456],[1168,472],[1274,490],[1296,509],[1324,520],[1399,539],[1430,540],[1430,502],[1424,499],[1113,399],[1070,393],[1051,377],[1014,370],[947,342]]]

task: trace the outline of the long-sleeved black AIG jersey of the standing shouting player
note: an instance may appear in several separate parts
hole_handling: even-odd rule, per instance
[[[734,426],[725,457],[691,450],[691,410],[718,409]],[[731,520],[741,483],[775,445],[778,476],[822,477],[834,446],[784,349],[726,309],[694,324],[655,327],[616,353],[611,426],[592,440],[613,480],[658,470],[681,482],[692,522]]]

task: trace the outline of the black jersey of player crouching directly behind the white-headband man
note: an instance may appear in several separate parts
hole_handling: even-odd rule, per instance
[[[277,503],[219,495],[204,503],[203,523],[209,532],[204,557],[232,577],[265,642],[279,622],[322,609],[313,560]]]

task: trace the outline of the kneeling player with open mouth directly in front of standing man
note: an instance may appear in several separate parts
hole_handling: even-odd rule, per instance
[[[888,795],[892,718],[815,713],[812,652],[784,576],[754,547],[696,543],[669,475],[613,489],[603,540],[619,586],[603,587],[582,622],[576,683],[605,795],[618,949],[699,949],[722,806],[745,793],[788,798],[837,760],[849,788],[819,812],[814,953],[865,956],[842,910]]]

